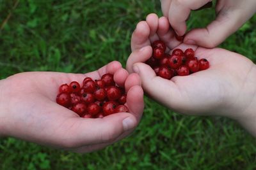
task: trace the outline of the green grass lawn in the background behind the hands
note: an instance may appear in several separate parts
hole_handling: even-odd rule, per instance
[[[112,60],[125,66],[131,33],[152,12],[161,16],[159,1],[0,0],[0,78],[23,71],[86,73]],[[189,27],[212,18],[213,9],[197,11]],[[221,47],[256,62],[255,25],[256,16]],[[179,115],[147,97],[145,103],[131,136],[94,153],[0,139],[0,169],[256,169],[255,138],[236,122]]]

